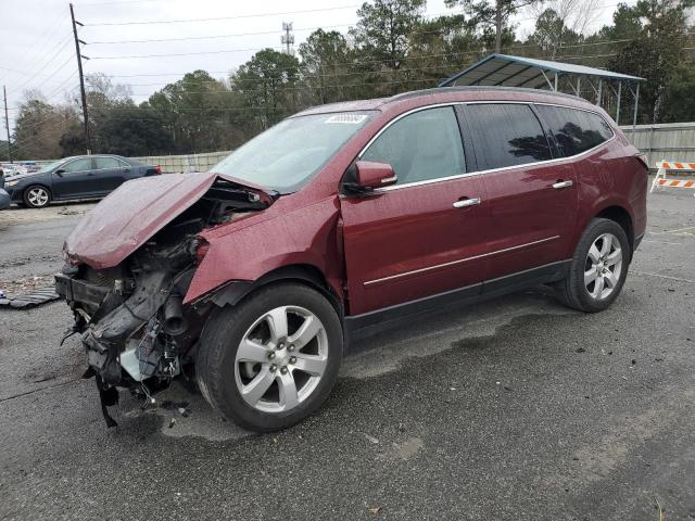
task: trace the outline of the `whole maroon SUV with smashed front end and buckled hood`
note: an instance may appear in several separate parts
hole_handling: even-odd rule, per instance
[[[207,174],[128,181],[65,242],[59,292],[102,410],[195,379],[282,429],[348,344],[440,306],[551,283],[605,309],[646,224],[647,167],[601,109],[440,88],[304,111]]]

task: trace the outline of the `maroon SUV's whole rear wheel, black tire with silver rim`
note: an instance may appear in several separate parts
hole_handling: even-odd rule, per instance
[[[582,233],[567,279],[555,285],[569,307],[595,313],[618,297],[628,276],[630,242],[614,220],[592,219]]]

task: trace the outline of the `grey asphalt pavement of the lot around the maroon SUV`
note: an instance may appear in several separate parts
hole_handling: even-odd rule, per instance
[[[695,520],[695,199],[648,205],[608,310],[539,288],[374,336],[277,434],[179,386],[108,430],[64,303],[0,309],[0,518]],[[60,268],[76,217],[2,214],[0,280]]]

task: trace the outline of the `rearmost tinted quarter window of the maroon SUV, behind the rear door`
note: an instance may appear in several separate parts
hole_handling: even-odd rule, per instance
[[[581,154],[612,138],[612,130],[598,114],[565,106],[536,105],[551,128],[563,157]]]

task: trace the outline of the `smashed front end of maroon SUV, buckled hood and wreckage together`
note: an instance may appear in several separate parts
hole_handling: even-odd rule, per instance
[[[127,387],[147,399],[192,367],[212,304],[184,305],[210,244],[203,230],[262,212],[275,195],[228,176],[157,176],[122,185],[73,230],[56,292],[75,316],[102,410]],[[127,208],[127,209],[124,209]]]

